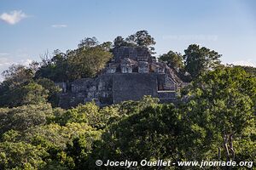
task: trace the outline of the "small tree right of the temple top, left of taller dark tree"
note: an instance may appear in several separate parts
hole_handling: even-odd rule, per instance
[[[183,56],[180,53],[169,51],[167,54],[160,55],[160,60],[166,61],[167,65],[174,69],[183,69]]]

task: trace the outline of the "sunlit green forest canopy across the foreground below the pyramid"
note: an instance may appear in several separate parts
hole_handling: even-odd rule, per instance
[[[145,96],[104,108],[94,102],[67,111],[43,103],[3,108],[0,166],[97,169],[98,159],[254,161],[255,99],[256,77],[225,67],[184,88],[177,105]]]

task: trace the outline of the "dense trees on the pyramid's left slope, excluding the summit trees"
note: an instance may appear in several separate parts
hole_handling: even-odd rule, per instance
[[[111,43],[99,44],[95,37],[84,38],[76,49],[68,50],[67,53],[55,50],[51,59],[44,57],[35,77],[49,78],[54,82],[95,77],[112,58],[110,47]]]

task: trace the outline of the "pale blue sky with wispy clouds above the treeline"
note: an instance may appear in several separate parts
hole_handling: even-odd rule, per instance
[[[256,66],[255,8],[253,0],[1,0],[0,71],[84,37],[105,42],[140,30],[155,38],[156,56],[197,43],[223,63]]]

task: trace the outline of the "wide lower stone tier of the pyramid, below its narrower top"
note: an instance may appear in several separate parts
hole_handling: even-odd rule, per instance
[[[74,81],[72,91],[60,95],[60,106],[70,108],[91,100],[95,100],[97,105],[112,105],[130,99],[139,100],[144,95],[151,95],[166,102],[175,99],[173,87],[175,83],[166,74],[104,74],[94,79]]]

